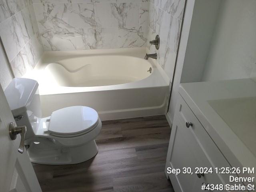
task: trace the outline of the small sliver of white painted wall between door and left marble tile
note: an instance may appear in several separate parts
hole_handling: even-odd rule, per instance
[[[0,44],[0,84],[3,90],[5,90],[8,84],[12,81],[12,78],[12,72],[4,54],[2,45]]]

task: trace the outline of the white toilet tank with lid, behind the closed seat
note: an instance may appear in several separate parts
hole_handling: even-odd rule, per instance
[[[18,126],[26,125],[25,139],[35,135],[42,116],[38,82],[26,78],[14,78],[4,94]]]

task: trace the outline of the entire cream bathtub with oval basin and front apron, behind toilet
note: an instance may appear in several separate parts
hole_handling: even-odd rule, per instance
[[[145,48],[46,52],[24,77],[39,83],[43,116],[75,105],[94,108],[102,120],[164,114],[169,80],[145,54]]]

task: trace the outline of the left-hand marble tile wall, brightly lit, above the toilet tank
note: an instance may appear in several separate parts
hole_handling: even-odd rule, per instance
[[[44,51],[32,0],[0,0],[0,36],[15,77],[34,68]]]

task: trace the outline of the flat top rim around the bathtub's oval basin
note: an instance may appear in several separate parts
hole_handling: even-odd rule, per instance
[[[119,90],[119,89],[137,89],[137,88],[148,88],[148,87],[165,87],[169,86],[170,78],[164,72],[162,67],[157,64],[156,60],[149,58],[153,72],[150,76],[138,80],[135,82],[129,82],[125,84],[106,85],[106,86],[92,86],[92,87],[67,87],[67,86],[49,86],[44,84],[43,80],[38,79],[36,73],[45,68],[53,60],[63,60],[73,57],[82,56],[96,56],[96,55],[121,55],[131,56],[136,58],[143,58],[148,53],[148,48],[118,48],[118,49],[106,49],[106,50],[78,50],[78,51],[50,51],[45,52],[42,58],[34,70],[27,72],[23,77],[32,78],[37,80],[39,83],[40,95],[52,95],[52,94],[68,94],[68,93],[79,93],[79,92],[96,92],[104,90]],[[63,58],[64,57],[64,58]],[[34,73],[36,71],[36,73]],[[50,87],[50,88],[49,88]]]

